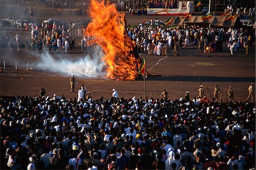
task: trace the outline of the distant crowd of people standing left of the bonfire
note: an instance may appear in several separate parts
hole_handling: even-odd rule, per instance
[[[25,47],[25,51],[42,51],[47,49],[49,52],[54,51],[71,51],[75,48],[76,38],[81,37],[85,28],[76,27],[74,23],[45,23],[42,22],[42,25],[34,24],[31,28],[25,28],[27,31],[31,30],[30,38],[26,38],[25,43],[23,44]],[[13,52],[15,48],[18,52],[20,52],[20,41],[25,38],[21,38],[17,33],[14,38],[10,38],[7,34],[5,35],[5,39],[3,39],[0,34],[0,44],[1,48],[9,47],[10,52]],[[89,43],[90,38],[86,37]]]

